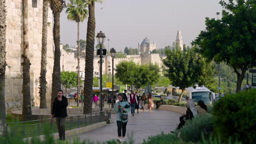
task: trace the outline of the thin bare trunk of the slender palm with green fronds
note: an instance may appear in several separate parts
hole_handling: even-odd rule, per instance
[[[79,88],[80,88],[80,65],[79,65],[79,53],[80,53],[80,44],[79,44],[79,22],[77,22],[77,94],[79,98]],[[77,106],[79,106],[79,99],[77,100]]]

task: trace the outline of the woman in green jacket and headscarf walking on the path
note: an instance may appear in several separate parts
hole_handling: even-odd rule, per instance
[[[128,112],[131,111],[131,105],[127,101],[123,101],[122,95],[118,95],[118,102],[115,103],[114,110],[117,112],[117,126],[118,126],[118,140],[120,142],[125,141],[126,124],[128,122]],[[127,119],[121,119],[121,115],[127,115]],[[121,137],[121,131],[123,131],[123,139]]]

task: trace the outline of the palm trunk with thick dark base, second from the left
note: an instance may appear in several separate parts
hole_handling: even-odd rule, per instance
[[[31,100],[30,100],[30,58],[29,58],[29,43],[28,43],[28,3],[27,0],[22,1],[22,16],[23,16],[23,83],[22,83],[22,121],[32,119]]]

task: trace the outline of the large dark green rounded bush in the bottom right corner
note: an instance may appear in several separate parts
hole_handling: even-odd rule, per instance
[[[236,137],[243,143],[256,141],[256,89],[228,94],[213,106],[214,132],[228,141]]]

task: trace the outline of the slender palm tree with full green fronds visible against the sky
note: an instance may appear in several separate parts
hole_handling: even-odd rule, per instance
[[[78,75],[77,75],[77,92],[79,95],[79,87],[80,87],[80,76],[79,76],[79,53],[80,53],[80,44],[79,44],[79,22],[83,22],[85,17],[88,14],[87,4],[84,0],[70,0],[71,3],[68,3],[66,13],[68,13],[67,19],[71,21],[77,22],[77,67],[78,67]],[[77,103],[77,106],[79,103]]]

